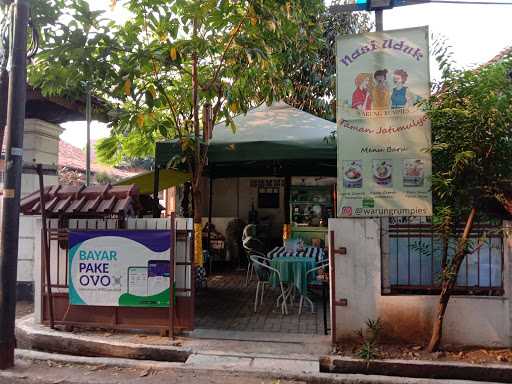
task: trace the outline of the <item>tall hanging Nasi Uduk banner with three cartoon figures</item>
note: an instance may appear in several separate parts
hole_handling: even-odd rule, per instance
[[[338,216],[430,216],[428,27],[337,41]]]

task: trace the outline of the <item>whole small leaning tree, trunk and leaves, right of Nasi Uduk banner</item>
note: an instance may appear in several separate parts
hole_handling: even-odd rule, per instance
[[[512,180],[512,55],[466,70],[450,68],[442,52],[439,59],[443,81],[426,105],[432,121],[434,219],[444,241],[457,238],[457,246],[450,259],[445,246],[430,352],[440,346],[462,262],[482,245],[469,239],[475,219],[504,211]],[[456,229],[460,223],[465,223],[462,233]]]

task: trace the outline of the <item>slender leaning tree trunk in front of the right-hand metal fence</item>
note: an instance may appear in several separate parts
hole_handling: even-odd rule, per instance
[[[466,257],[466,244],[468,242],[469,235],[473,230],[475,215],[476,208],[471,208],[471,212],[469,213],[468,219],[466,220],[464,232],[459,241],[459,244],[457,245],[457,252],[455,253],[455,257],[451,265],[446,267],[449,270],[448,272],[450,272],[450,274],[448,274],[447,277],[443,278],[442,290],[441,294],[439,295],[439,303],[437,304],[437,315],[434,320],[434,325],[432,327],[432,336],[430,338],[430,342],[427,348],[429,352],[437,351],[439,349],[439,346],[441,345],[444,315],[446,313],[446,308],[448,307],[448,301],[450,300],[451,297],[451,290],[453,289],[457,282],[457,276],[459,274],[460,266],[462,265],[462,261]]]

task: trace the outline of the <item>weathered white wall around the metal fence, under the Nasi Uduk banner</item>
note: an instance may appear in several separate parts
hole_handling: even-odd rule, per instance
[[[509,225],[507,223],[507,225]],[[335,248],[336,297],[348,306],[336,307],[336,338],[352,338],[367,319],[381,318],[384,334],[409,342],[428,340],[437,296],[383,295],[381,280],[381,231],[379,219],[330,219]],[[448,305],[443,342],[482,346],[512,346],[510,270],[512,240],[505,241],[505,296],[455,296]]]

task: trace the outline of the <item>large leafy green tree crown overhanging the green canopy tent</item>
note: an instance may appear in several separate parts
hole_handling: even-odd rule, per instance
[[[49,13],[54,23],[45,30],[30,82],[45,94],[81,97],[87,80],[122,111],[112,121],[112,137],[98,146],[110,163],[151,154],[162,139],[179,140],[188,164],[197,161],[202,138],[195,137],[192,110],[194,55],[199,111],[212,105],[214,123],[225,121],[233,132],[234,115],[294,94],[301,94],[304,109],[330,110],[334,37],[367,23],[354,16],[326,35],[331,16],[322,0],[127,0],[116,4],[132,14],[124,24],[105,20],[85,0],[34,1],[48,12],[55,11],[49,5],[61,7]],[[304,98],[312,101],[305,105]],[[200,112],[200,132],[201,124]]]

